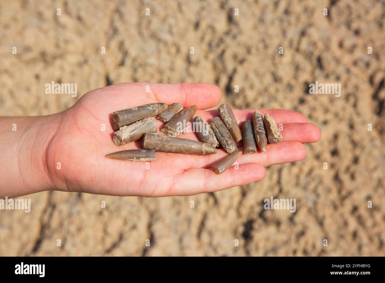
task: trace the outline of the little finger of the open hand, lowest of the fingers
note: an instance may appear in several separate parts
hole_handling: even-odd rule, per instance
[[[255,163],[230,167],[222,174],[211,169],[189,169],[174,177],[174,182],[167,195],[189,196],[241,186],[264,178],[266,171],[263,166]]]

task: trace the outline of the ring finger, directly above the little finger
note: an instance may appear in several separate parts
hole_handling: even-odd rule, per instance
[[[243,148],[239,148],[243,151]],[[228,153],[223,149],[218,149],[216,154],[206,156],[185,157],[186,167],[189,168],[210,168],[214,163],[223,159]],[[283,164],[288,162],[301,161],[306,156],[306,148],[300,142],[279,142],[278,144],[268,144],[266,152],[242,154],[237,162],[239,164],[258,163],[264,167],[273,164]]]

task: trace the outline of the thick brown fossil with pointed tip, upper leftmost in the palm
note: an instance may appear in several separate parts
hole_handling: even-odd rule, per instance
[[[166,103],[150,103],[115,111],[111,115],[112,127],[114,127],[115,130],[118,130],[119,127],[132,124],[133,122],[142,120],[147,117],[161,114],[166,109]]]

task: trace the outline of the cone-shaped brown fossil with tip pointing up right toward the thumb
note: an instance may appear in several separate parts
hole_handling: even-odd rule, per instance
[[[192,117],[198,109],[197,105],[192,105],[183,109],[181,112],[172,117],[161,129],[167,136],[179,136],[186,131],[188,122],[191,122]]]

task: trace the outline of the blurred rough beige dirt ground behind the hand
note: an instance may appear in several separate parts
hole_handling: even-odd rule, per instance
[[[303,161],[217,193],[30,195],[31,213],[0,211],[0,255],[384,256],[384,18],[374,0],[1,1],[2,116],[63,111],[119,82],[209,82],[234,108],[298,111],[322,136]],[[78,97],[45,94],[52,80]],[[316,80],[341,97],[309,94]],[[271,196],[296,212],[264,210]]]

